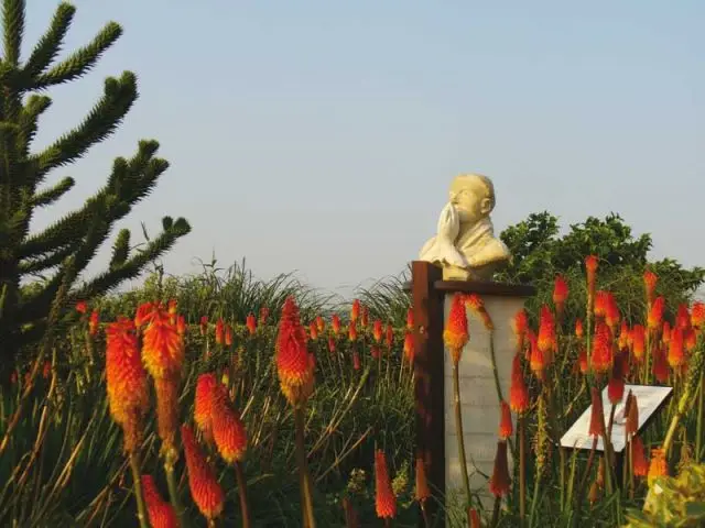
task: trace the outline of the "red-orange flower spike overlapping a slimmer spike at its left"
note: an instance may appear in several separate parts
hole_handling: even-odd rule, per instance
[[[247,449],[247,432],[240,415],[230,407],[225,385],[216,384],[212,393],[213,439],[225,462],[242,460]]]

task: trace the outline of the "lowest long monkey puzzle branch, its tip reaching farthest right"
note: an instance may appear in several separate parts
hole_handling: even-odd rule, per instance
[[[188,222],[183,218],[176,219],[169,229],[164,229],[145,249],[132,256],[122,266],[96,276],[85,286],[73,293],[72,299],[74,301],[78,299],[89,299],[109,292],[123,280],[135,278],[143,271],[144,266],[167,252],[177,239],[189,232],[191,226]]]

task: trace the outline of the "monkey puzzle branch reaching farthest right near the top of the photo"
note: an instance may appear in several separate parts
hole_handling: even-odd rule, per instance
[[[11,0],[6,0],[6,3]],[[19,1],[19,0],[18,0]],[[61,85],[86,75],[100,56],[120,37],[122,28],[117,22],[108,22],[94,37],[90,44],[70,54],[46,74],[39,75],[29,89],[41,90],[50,86]]]

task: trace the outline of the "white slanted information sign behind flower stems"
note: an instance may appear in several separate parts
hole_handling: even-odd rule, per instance
[[[673,392],[672,387],[654,387],[651,385],[626,385],[625,395],[622,400],[617,404],[615,408],[615,422],[612,425],[611,443],[616,453],[621,452],[626,444],[627,438],[625,435],[625,404],[627,403],[627,395],[631,391],[631,394],[637,398],[637,407],[639,408],[639,427],[641,430],[643,425],[651,418],[651,416],[659,409],[659,407],[665,402],[665,399]],[[609,415],[611,413],[612,404],[609,403],[607,396],[607,387],[603,391],[603,408],[605,409],[605,427],[609,427]],[[588,435],[590,427],[590,416],[593,414],[593,406],[590,405],[585,413],[571,426],[563,438],[561,439],[561,446],[572,449],[592,449],[593,437]],[[596,451],[604,451],[605,446],[603,438],[597,439]]]

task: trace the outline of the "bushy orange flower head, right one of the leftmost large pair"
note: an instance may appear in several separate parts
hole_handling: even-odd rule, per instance
[[[170,374],[181,375],[184,362],[184,342],[172,324],[169,314],[155,310],[152,321],[144,330],[142,339],[142,359],[147,371],[154,380]]]

